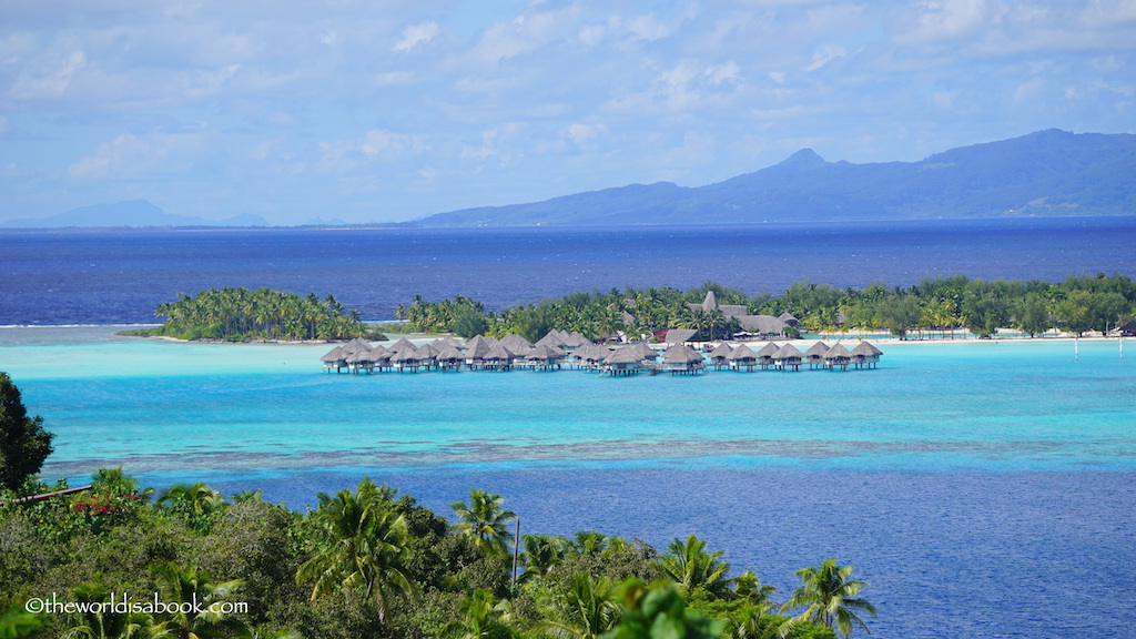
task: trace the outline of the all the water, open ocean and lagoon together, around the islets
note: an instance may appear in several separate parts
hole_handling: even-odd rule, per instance
[[[872,637],[1136,637],[1136,348],[885,346],[849,374],[327,375],[312,345],[116,337],[177,292],[334,293],[367,318],[415,294],[491,308],[708,280],[1136,275],[1136,218],[602,230],[0,233],[0,371],[57,432],[44,472],[124,464],[152,486],[387,482],[440,513],[500,492],[523,531],[662,549],[698,533],[791,596],[857,566]],[[19,327],[31,325],[32,327]],[[775,598],[778,598],[775,597]],[[862,636],[860,631],[855,636]]]

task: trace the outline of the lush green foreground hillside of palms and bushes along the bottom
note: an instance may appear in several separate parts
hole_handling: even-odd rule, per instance
[[[774,613],[771,587],[730,576],[695,536],[660,555],[596,531],[526,534],[515,572],[516,515],[476,489],[452,522],[368,479],[304,514],[257,491],[142,489],[122,468],[12,503],[65,488],[30,478],[0,493],[0,637],[835,639],[874,613],[835,562],[799,571],[802,589]],[[25,608],[52,596],[76,605]]]

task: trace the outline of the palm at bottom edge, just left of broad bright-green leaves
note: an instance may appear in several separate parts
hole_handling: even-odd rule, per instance
[[[587,573],[574,574],[567,589],[543,590],[536,607],[545,619],[536,632],[552,639],[596,639],[623,616],[611,581]]]

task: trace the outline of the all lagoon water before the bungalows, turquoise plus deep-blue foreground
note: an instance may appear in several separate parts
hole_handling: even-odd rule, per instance
[[[874,637],[1136,636],[1136,345],[893,343],[875,371],[327,374],[324,345],[0,329],[57,433],[47,476],[125,465],[298,509],[370,475],[525,532],[694,532],[783,594],[836,556]],[[787,595],[785,595],[787,596]]]

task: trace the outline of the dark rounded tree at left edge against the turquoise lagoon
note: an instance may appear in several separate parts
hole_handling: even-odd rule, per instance
[[[19,389],[0,372],[0,488],[17,490],[39,473],[55,437],[43,428],[43,417],[27,416]]]

